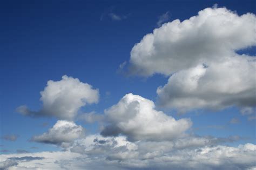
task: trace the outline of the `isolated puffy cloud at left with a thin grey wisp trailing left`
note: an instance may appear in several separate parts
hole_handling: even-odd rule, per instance
[[[49,80],[41,93],[43,107],[40,111],[29,110],[26,106],[17,108],[18,112],[32,117],[54,116],[58,119],[72,120],[80,107],[98,103],[99,92],[91,85],[77,78],[63,76],[60,81]]]

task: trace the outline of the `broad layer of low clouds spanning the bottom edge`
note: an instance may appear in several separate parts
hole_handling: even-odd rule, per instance
[[[62,152],[0,155],[9,169],[253,169],[256,145],[218,145],[207,138],[176,142],[89,135]],[[188,142],[189,141],[189,142]],[[186,145],[183,145],[184,142]],[[214,144],[214,146],[212,146]],[[14,159],[15,158],[15,159]],[[30,158],[30,159],[24,159]],[[40,159],[38,159],[40,158]]]

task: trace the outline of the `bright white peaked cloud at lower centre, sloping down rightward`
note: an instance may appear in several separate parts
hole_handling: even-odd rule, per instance
[[[109,125],[102,134],[124,134],[129,140],[171,140],[191,127],[189,119],[175,120],[154,107],[151,100],[126,94],[118,104],[105,110]]]

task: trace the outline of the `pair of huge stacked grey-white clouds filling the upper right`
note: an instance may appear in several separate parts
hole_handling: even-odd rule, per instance
[[[170,76],[157,90],[164,107],[254,107],[255,57],[236,51],[256,45],[255,22],[253,13],[206,8],[183,22],[165,23],[133,46],[130,71]]]

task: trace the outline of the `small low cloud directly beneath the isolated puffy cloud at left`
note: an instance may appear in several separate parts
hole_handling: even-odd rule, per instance
[[[84,133],[82,126],[71,121],[58,120],[48,132],[32,137],[31,141],[67,147],[73,140],[84,137]]]

